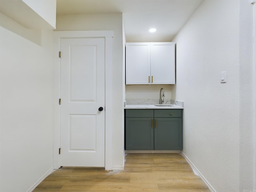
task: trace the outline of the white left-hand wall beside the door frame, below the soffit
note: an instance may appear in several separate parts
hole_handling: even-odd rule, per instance
[[[26,192],[53,166],[52,31],[4,22],[17,34],[0,26],[0,191]]]

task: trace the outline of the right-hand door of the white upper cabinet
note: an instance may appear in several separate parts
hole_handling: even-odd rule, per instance
[[[175,84],[175,43],[151,43],[151,84]]]

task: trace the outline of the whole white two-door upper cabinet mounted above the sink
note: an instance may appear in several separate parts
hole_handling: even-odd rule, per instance
[[[126,84],[175,84],[175,43],[126,43]]]

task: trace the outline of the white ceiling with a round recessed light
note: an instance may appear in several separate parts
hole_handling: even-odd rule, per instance
[[[203,1],[57,0],[57,15],[123,13],[126,42],[171,41]]]

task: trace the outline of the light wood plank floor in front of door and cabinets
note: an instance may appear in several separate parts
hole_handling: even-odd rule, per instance
[[[180,154],[126,154],[124,170],[62,167],[33,192],[210,192]]]

